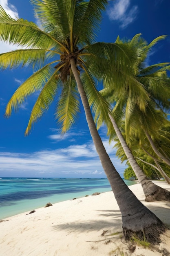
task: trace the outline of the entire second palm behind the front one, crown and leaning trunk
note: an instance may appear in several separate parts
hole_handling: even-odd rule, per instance
[[[121,92],[121,94],[119,92],[117,93],[117,90],[119,90],[119,85],[117,86],[114,81],[111,81],[111,83],[113,83],[112,86],[110,86],[110,83],[107,85],[108,82],[106,79],[106,88],[101,91],[101,94],[108,100],[110,104],[113,104],[114,101],[116,102],[113,108],[113,114],[109,114],[110,120],[113,124],[115,133],[119,138],[121,146],[123,147],[124,152],[128,158],[128,161],[132,166],[132,169],[135,172],[135,175],[137,176],[139,182],[141,183],[144,194],[146,196],[145,200],[148,202],[153,202],[155,200],[170,201],[170,192],[162,189],[161,187],[157,186],[156,184],[147,179],[146,175],[144,175],[139,164],[132,155],[130,146],[128,145],[130,145],[131,137],[133,138],[133,136],[135,136],[131,135],[130,131],[134,131],[135,134],[135,131],[137,129],[136,124],[138,124],[139,128],[142,127],[143,129],[144,124],[146,125],[146,127],[149,128],[152,126],[152,131],[154,134],[156,130],[154,130],[154,127],[157,127],[158,125],[160,126],[163,121],[166,121],[163,115],[161,115],[161,112],[158,113],[158,111],[155,110],[155,101],[157,101],[157,107],[169,107],[170,87],[168,85],[170,85],[170,80],[166,77],[166,70],[170,69],[170,66],[168,65],[169,63],[159,63],[157,65],[148,67],[145,70],[142,69],[143,62],[147,56],[147,52],[155,43],[157,43],[158,40],[163,38],[163,36],[156,38],[149,45],[147,45],[145,40],[141,38],[140,34],[137,34],[132,38],[132,40],[128,40],[128,42],[123,42],[118,37],[116,42],[119,45],[122,45],[124,43],[130,47],[133,47],[134,52],[136,52],[138,56],[138,59],[134,60],[131,63],[132,76],[127,79],[127,82],[124,85],[124,92]],[[158,70],[158,67],[161,67],[161,70]],[[154,70],[155,73],[153,73],[152,70]],[[151,77],[148,75],[149,72]],[[163,76],[161,77],[162,74]],[[148,82],[149,79],[150,81]],[[158,89],[152,89],[152,92],[150,88],[153,87],[153,85],[156,85],[157,88],[161,87],[161,96],[157,95]],[[116,88],[116,86],[118,87],[118,89]],[[148,88],[148,90],[146,90],[145,88]],[[141,92],[141,96],[138,91]],[[116,95],[116,93],[118,95]],[[138,109],[138,112],[135,111],[136,109]],[[122,120],[121,117],[124,117],[124,112],[126,113],[125,137],[126,141],[128,141],[128,145],[126,144],[126,141],[117,125],[119,119]],[[141,115],[143,118],[141,118],[142,121],[139,124]],[[166,157],[162,157],[161,159],[166,159]]]

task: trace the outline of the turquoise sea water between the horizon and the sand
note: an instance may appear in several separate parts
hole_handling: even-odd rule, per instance
[[[126,180],[130,186],[135,181]],[[0,219],[94,192],[110,191],[107,179],[0,178]]]

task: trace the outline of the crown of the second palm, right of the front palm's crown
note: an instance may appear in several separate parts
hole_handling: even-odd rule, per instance
[[[108,85],[106,81],[106,88],[101,90],[101,94],[112,106],[114,104],[113,114],[117,122],[125,117],[127,138],[130,131],[135,130],[139,123],[140,126],[151,129],[154,133],[155,125],[162,124],[166,117],[164,112],[170,108],[170,79],[167,75],[170,63],[158,63],[145,67],[148,52],[164,38],[165,36],[159,36],[150,44],[141,37],[141,34],[137,34],[128,41],[120,40],[119,37],[116,40],[120,45],[126,44],[132,47],[137,59],[131,62],[133,72],[131,80],[126,80],[124,91],[117,90],[119,85],[115,81],[112,81],[113,85]]]

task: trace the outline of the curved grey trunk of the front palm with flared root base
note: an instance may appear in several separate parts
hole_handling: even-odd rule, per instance
[[[88,99],[73,58],[71,59],[71,69],[75,76],[78,91],[84,106],[91,137],[122,214],[123,233],[126,240],[130,240],[132,236],[136,234],[140,239],[144,239],[145,236],[145,239],[151,243],[159,242],[160,234],[163,234],[166,230],[165,225],[137,199],[121,179],[119,173],[117,173],[98,134]]]

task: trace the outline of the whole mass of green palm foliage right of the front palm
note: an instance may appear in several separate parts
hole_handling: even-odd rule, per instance
[[[135,35],[128,41],[120,40],[118,36],[115,43],[120,47],[122,45],[125,45],[127,49],[129,47],[133,51],[133,55],[135,54],[135,58],[130,59],[129,73],[126,73],[124,87],[121,87],[116,79],[115,84],[114,82],[112,84],[110,80],[109,85],[104,80],[105,88],[100,92],[110,106],[113,106],[113,118],[132,154],[135,157],[143,157],[148,152],[158,161],[161,159],[155,154],[146,137],[146,132],[152,137],[159,152],[170,159],[169,121],[166,114],[170,109],[170,79],[167,73],[170,71],[170,63],[158,63],[146,67],[145,60],[152,47],[164,38],[166,36],[159,36],[148,44],[141,34]],[[128,56],[129,52],[127,51],[126,54]],[[117,142],[115,145],[117,147],[116,155],[121,158],[122,162],[127,160],[119,139],[111,130],[110,140],[112,139]],[[143,155],[141,156],[141,154]],[[146,162],[155,164],[151,157],[150,159],[147,156],[144,158]],[[160,173],[157,174],[153,166],[139,160],[137,162],[146,176],[159,177]],[[161,163],[161,165],[163,164]],[[163,167],[168,169],[167,166]],[[128,168],[125,177],[134,176],[131,171],[132,169]]]

